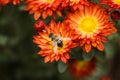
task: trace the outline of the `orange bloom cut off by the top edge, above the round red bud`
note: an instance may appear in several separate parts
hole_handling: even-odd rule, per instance
[[[60,12],[57,9],[60,3],[61,0],[26,0],[25,10],[29,11],[29,14],[34,13],[34,19],[37,20],[40,16],[46,18],[53,13],[59,15]]]

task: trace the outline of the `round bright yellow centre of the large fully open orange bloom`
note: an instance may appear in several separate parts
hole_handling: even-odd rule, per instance
[[[79,29],[86,34],[91,34],[93,33],[98,27],[98,22],[95,18],[93,17],[85,17],[81,19],[80,24],[79,24]]]

